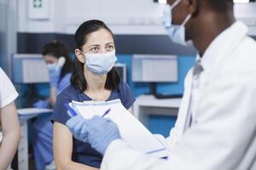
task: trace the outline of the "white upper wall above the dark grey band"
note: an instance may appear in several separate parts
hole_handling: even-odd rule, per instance
[[[153,0],[43,0],[49,1],[49,19],[28,17],[28,1],[19,0],[20,32],[59,32],[73,34],[85,20],[100,19],[115,34],[166,34],[161,25],[163,5]],[[256,35],[256,3],[240,3],[235,14]]]

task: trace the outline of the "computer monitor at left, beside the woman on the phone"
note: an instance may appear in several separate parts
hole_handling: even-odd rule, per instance
[[[13,54],[12,79],[15,83],[49,82],[42,54]]]

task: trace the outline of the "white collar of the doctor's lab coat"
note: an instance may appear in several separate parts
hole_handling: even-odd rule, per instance
[[[236,47],[241,38],[247,35],[247,31],[247,26],[241,21],[236,21],[211,42],[202,58],[197,54],[196,61],[201,59],[204,71],[210,71],[219,59],[228,55]]]

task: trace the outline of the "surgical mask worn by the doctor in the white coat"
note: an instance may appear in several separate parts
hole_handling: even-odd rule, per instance
[[[189,14],[183,23],[178,25],[172,24],[172,9],[177,6],[178,3],[180,3],[182,0],[177,0],[175,3],[170,5],[166,5],[163,15],[164,25],[166,27],[166,31],[168,33],[168,36],[171,37],[172,42],[184,45],[184,46],[190,46],[192,45],[192,41],[186,41],[185,39],[185,25],[188,23],[188,21],[191,18],[191,14]]]

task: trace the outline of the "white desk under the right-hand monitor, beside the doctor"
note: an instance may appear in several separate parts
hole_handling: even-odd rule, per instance
[[[181,99],[156,99],[153,95],[137,97],[133,105],[133,114],[148,127],[149,115],[177,116]]]

